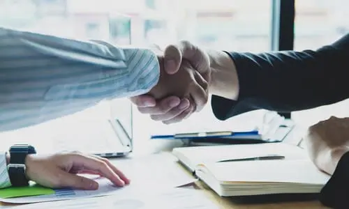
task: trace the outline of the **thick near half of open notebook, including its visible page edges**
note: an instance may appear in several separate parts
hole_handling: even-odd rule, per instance
[[[220,196],[318,193],[329,180],[309,160],[199,164],[195,173]]]

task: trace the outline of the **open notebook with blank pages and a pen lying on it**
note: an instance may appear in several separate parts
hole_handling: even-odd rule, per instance
[[[302,148],[283,143],[175,148],[173,154],[220,196],[318,193],[330,178]],[[284,159],[243,160],[272,155]]]

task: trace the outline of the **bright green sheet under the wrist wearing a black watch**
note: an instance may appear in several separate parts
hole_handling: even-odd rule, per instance
[[[54,194],[51,188],[40,186],[36,183],[30,183],[28,187],[8,187],[0,189],[0,198],[14,198],[20,196],[37,196],[45,194]]]

